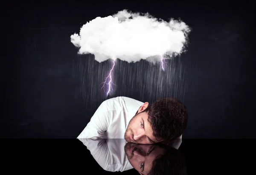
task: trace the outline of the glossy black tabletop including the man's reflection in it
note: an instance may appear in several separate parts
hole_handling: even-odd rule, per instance
[[[3,170],[26,173],[194,175],[248,172],[255,140],[183,139],[180,146],[124,139],[1,139]],[[177,146],[177,145],[176,145]]]

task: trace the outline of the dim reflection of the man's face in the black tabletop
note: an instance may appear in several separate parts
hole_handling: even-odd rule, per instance
[[[163,154],[163,148],[156,144],[127,143],[125,153],[134,169],[141,175],[147,175],[154,159]]]

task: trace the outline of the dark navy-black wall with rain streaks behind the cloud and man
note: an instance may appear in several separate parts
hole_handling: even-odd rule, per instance
[[[100,16],[128,9],[180,18],[192,32],[169,67],[118,60],[115,91],[100,91],[111,62],[78,55],[70,35]],[[1,138],[76,138],[105,99],[180,99],[183,138],[255,138],[255,3],[9,3],[1,11],[4,85]],[[5,42],[6,41],[6,42]],[[5,87],[5,86],[3,86]]]

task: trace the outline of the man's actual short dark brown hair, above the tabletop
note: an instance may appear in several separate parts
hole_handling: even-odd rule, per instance
[[[157,139],[172,141],[186,129],[188,112],[186,106],[174,98],[159,99],[143,111],[148,112],[148,122]]]

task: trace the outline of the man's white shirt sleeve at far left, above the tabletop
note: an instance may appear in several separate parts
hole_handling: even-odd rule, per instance
[[[108,126],[108,108],[106,102],[102,102],[77,138],[103,138],[103,135],[108,130]]]

